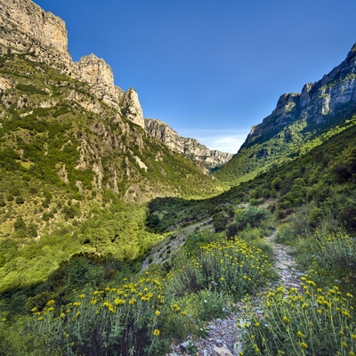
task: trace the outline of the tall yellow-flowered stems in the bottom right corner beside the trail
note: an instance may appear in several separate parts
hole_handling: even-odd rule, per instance
[[[270,289],[260,295],[263,315],[256,315],[247,300],[243,325],[244,355],[354,355],[356,330],[352,295],[338,287],[322,290],[311,279],[304,293],[295,288]],[[283,353],[284,352],[284,353]]]

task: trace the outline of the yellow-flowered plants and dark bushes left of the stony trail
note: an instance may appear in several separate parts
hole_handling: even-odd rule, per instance
[[[232,300],[253,293],[271,271],[271,256],[260,248],[239,239],[210,239],[208,245],[175,251],[168,273],[158,266],[125,271],[121,265],[121,273],[105,279],[115,260],[91,264],[88,256],[78,255],[50,276],[53,292],[28,299],[24,319],[3,318],[4,354],[158,355],[173,339],[191,332],[201,336],[203,322],[223,317]]]

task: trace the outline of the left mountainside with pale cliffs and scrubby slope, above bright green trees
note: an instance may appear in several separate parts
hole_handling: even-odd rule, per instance
[[[114,85],[105,61],[72,61],[61,19],[30,0],[0,0],[0,26],[0,151],[14,152],[14,167],[23,158],[38,184],[64,182],[97,201],[223,189],[142,128],[137,93]]]

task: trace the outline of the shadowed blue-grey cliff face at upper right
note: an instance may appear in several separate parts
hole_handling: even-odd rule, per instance
[[[276,109],[255,125],[241,149],[260,136],[302,119],[307,124],[322,125],[354,106],[356,101],[356,44],[343,61],[318,82],[303,86],[302,93],[280,96]]]

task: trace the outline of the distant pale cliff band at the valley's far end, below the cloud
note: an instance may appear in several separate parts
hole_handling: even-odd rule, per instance
[[[232,158],[231,153],[209,150],[195,139],[179,136],[172,127],[160,120],[145,118],[144,124],[146,131],[164,142],[168,148],[190,158],[193,162],[203,162],[208,170],[223,166]]]

